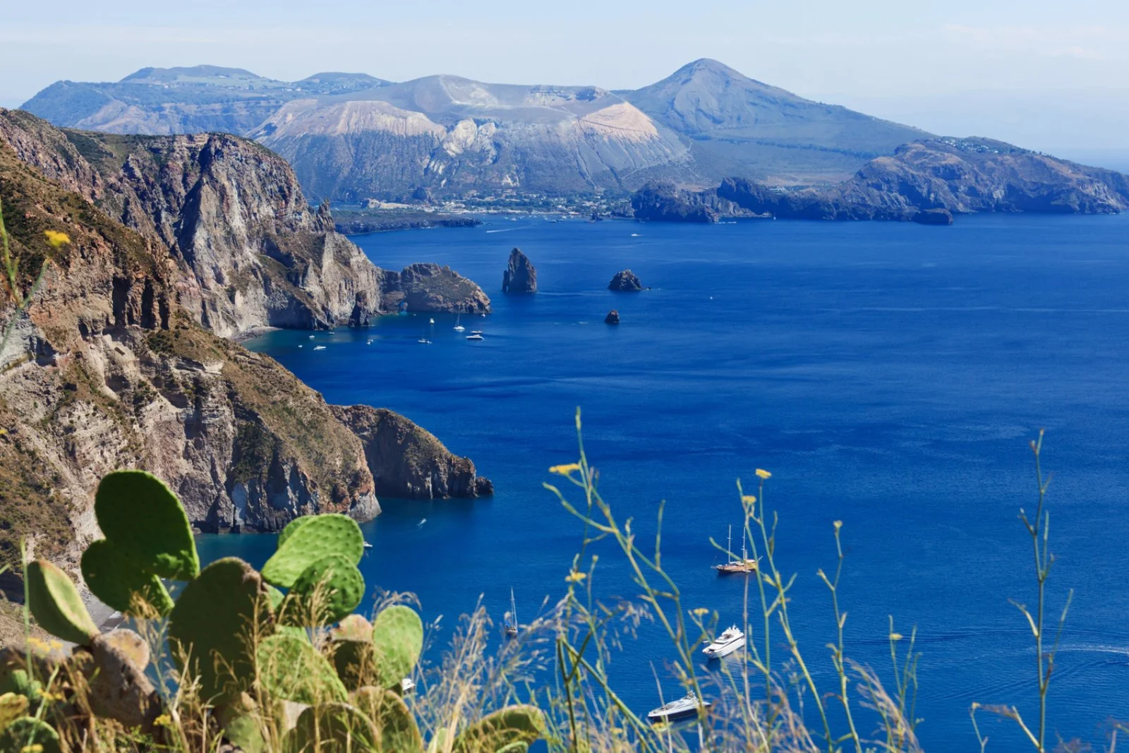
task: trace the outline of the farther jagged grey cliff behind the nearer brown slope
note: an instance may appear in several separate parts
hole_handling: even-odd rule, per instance
[[[409,292],[399,287],[401,274],[375,266],[334,231],[326,204],[310,211],[286,160],[253,141],[62,131],[18,111],[0,111],[0,140],[172,249],[194,277],[180,287],[178,301],[222,336],[263,326],[365,325]],[[481,290],[470,281],[462,287],[470,298],[435,296],[420,310],[480,305]]]

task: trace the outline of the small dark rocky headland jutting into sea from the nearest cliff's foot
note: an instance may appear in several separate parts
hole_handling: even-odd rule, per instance
[[[434,499],[493,493],[469,457],[453,455],[435,436],[399,413],[368,405],[333,405],[334,414],[365,446],[376,492]]]

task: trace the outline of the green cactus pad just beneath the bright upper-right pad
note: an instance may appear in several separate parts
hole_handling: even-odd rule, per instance
[[[365,577],[341,554],[330,554],[303,570],[280,614],[289,625],[323,625],[350,614],[365,596]]]

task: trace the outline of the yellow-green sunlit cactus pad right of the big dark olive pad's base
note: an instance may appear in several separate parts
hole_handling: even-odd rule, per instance
[[[344,685],[333,666],[308,640],[286,633],[259,643],[259,677],[275,699],[298,703],[344,701]]]

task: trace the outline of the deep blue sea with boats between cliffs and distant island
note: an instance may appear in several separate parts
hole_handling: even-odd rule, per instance
[[[1008,599],[1035,601],[1018,513],[1036,501],[1029,441],[1045,428],[1050,620],[1074,589],[1049,736],[1099,743],[1109,718],[1129,719],[1129,217],[495,218],[355,240],[384,268],[449,264],[493,305],[462,317],[482,342],[454,316],[418,314],[250,343],[327,401],[404,413],[493,480],[492,499],[383,499],[365,526],[368,581],[417,593],[425,620],[444,615],[435,650],[480,595],[500,620],[513,587],[526,621],[564,593],[581,527],[542,482],[577,458],[579,406],[604,497],[647,546],[666,501],[663,563],[685,606],[725,625],[739,621],[743,586],[710,569],[710,537],[741,522],[736,480],[771,471],[778,563],[797,573],[790,612],[825,692],[834,616],[816,570],[833,570],[842,520],[847,654],[892,686],[889,615],[905,636],[916,628],[920,739],[975,750],[972,702],[1014,703],[1032,723],[1036,710],[1032,632]],[[536,295],[501,294],[514,246],[537,268]],[[610,292],[624,268],[650,289]],[[612,308],[619,326],[603,322]],[[273,542],[210,536],[201,549],[261,564]],[[622,558],[601,553],[596,590],[636,594]],[[646,712],[656,675],[676,692],[671,659],[646,628],[613,657],[612,681]],[[980,723],[989,751],[1022,744],[1013,723]]]

